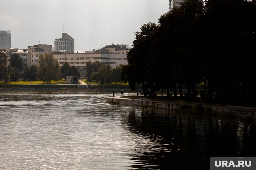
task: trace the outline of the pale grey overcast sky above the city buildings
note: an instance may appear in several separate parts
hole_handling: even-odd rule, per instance
[[[168,12],[168,0],[0,0],[0,30],[11,31],[11,47],[47,44],[64,32],[75,52],[111,44],[131,47],[142,24]]]

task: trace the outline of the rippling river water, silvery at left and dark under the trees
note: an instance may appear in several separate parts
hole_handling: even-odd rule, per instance
[[[0,91],[0,169],[205,170],[210,157],[256,155],[255,120],[112,105],[111,95]]]

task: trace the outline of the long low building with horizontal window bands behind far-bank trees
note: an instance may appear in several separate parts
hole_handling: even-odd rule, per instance
[[[97,60],[102,63],[108,63],[112,68],[119,64],[128,64],[126,54],[109,52],[109,50],[104,48],[97,51],[85,51],[84,53],[53,52],[53,54],[61,66],[68,62],[70,66],[74,65],[78,68],[82,78],[85,78],[86,75],[85,67],[87,61],[94,62]]]

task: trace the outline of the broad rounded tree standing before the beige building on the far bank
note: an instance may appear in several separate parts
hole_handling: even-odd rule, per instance
[[[39,63],[37,69],[38,79],[46,81],[47,84],[51,84],[52,80],[57,81],[60,79],[60,66],[58,60],[53,57],[53,53],[40,55],[37,62]]]

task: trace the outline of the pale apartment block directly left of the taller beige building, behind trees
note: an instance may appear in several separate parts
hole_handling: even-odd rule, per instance
[[[28,66],[29,63],[29,51],[26,49],[19,50],[18,48],[7,48],[6,54],[10,57],[11,54],[18,54],[21,57],[22,68],[21,73],[24,73],[24,69]]]

